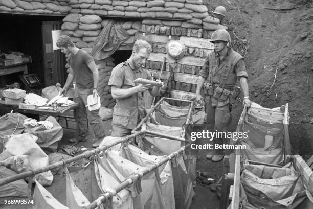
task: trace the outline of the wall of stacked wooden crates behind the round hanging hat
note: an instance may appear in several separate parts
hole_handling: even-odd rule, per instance
[[[146,62],[146,68],[155,79],[160,79],[160,69],[165,59],[161,80],[166,81],[171,98],[193,100],[196,83],[208,53],[214,49],[209,41],[213,31],[204,29],[186,29],[170,26],[142,25],[136,39],[144,39],[152,46],[152,53]],[[181,59],[172,59],[166,55],[166,44],[170,40],[181,40],[186,53]]]

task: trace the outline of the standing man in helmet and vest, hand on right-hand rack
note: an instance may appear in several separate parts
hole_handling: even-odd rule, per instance
[[[210,130],[214,127],[218,132],[227,132],[231,122],[232,104],[237,97],[235,86],[237,79],[240,81],[244,95],[243,104],[251,105],[248,73],[245,70],[243,57],[229,47],[231,37],[226,30],[214,31],[210,42],[214,44],[214,50],[208,54],[200,71],[196,101],[206,104],[206,129]],[[204,88],[204,97],[200,94],[202,88]],[[214,138],[213,142],[222,145],[226,140],[226,138]],[[212,149],[206,157],[212,161],[219,161],[223,156],[222,149]]]

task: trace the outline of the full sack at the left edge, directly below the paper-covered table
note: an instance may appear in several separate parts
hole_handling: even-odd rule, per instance
[[[24,120],[28,119],[20,113],[8,113],[0,117],[0,137],[12,134],[23,133],[25,127],[23,126]],[[1,140],[0,140],[1,142]],[[0,143],[0,153],[2,152],[2,143]]]

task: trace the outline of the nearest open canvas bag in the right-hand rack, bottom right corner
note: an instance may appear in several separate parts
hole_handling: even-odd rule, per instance
[[[283,168],[245,165],[241,176],[243,208],[296,208],[306,198],[302,179],[291,163]]]

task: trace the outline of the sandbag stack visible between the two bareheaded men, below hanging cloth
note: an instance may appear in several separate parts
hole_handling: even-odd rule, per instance
[[[101,106],[114,107],[116,100],[112,98],[111,87],[107,85],[112,69],[115,67],[114,59],[108,57],[96,63],[99,71],[98,94],[101,98]]]

